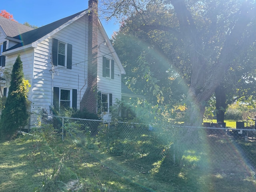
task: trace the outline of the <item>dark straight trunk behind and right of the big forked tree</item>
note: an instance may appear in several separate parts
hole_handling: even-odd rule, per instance
[[[226,111],[226,94],[222,85],[216,87],[215,96],[217,122],[224,122],[224,116]]]

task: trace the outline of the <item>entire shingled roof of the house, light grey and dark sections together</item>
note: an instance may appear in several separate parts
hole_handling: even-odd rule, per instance
[[[38,39],[40,39],[43,36],[47,35],[48,33],[52,32],[56,28],[62,26],[63,24],[65,24],[66,22],[71,20],[72,18],[78,16],[82,12],[84,12],[84,10],[81,12],[78,12],[74,15],[68,16],[66,18],[62,18],[62,19],[55,21],[53,23],[50,23],[48,25],[37,28],[37,29],[27,27],[25,25],[16,23],[16,22],[8,20],[6,18],[4,18],[4,20],[3,20],[0,17],[1,18],[0,26],[3,28],[6,35],[9,37],[12,37],[12,38],[16,38],[18,40],[22,40],[22,43],[18,43],[15,46],[7,49],[6,51],[13,50],[18,47],[22,47],[24,45],[28,45],[28,44],[31,44],[31,43],[37,41]],[[3,21],[3,24],[2,24],[2,21]]]

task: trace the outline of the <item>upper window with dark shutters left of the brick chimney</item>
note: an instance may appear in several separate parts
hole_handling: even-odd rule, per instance
[[[52,39],[52,64],[72,69],[72,45]]]

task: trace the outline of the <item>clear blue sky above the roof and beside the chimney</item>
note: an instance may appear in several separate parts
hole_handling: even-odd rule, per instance
[[[100,1],[100,0],[99,0]],[[61,18],[70,16],[88,8],[88,0],[2,0],[0,10],[6,10],[21,24],[44,26]],[[100,17],[101,18],[101,17]],[[108,37],[119,28],[111,20],[100,19]]]

